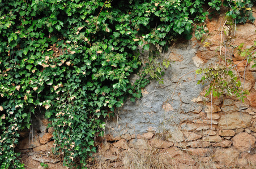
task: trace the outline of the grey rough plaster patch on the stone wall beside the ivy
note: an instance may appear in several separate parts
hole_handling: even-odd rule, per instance
[[[105,133],[116,137],[123,134],[142,135],[148,131],[152,133],[173,131],[176,130],[175,126],[180,125],[182,121],[198,117],[193,112],[199,112],[202,106],[191,100],[198,97],[202,91],[202,85],[197,84],[202,75],[189,73],[191,70],[198,69],[192,59],[196,52],[197,48],[194,48],[191,42],[177,44],[165,52],[163,57],[173,57],[175,53],[178,61],[165,71],[164,84],[151,81],[143,89],[143,92],[147,92],[144,92],[142,98],[137,99],[135,103],[127,100],[116,113],[118,114],[118,123],[114,120],[115,118],[108,120]],[[142,57],[148,56],[143,54]],[[214,63],[214,60],[208,64],[210,63]],[[182,75],[185,76],[176,87]],[[135,82],[136,78],[136,75],[131,75],[131,83]],[[175,91],[174,88],[176,88]],[[172,95],[173,97],[170,99]]]

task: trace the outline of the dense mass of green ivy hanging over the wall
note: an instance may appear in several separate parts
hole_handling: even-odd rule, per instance
[[[141,65],[137,46],[165,48],[177,35],[191,38],[194,23],[208,15],[205,3],[0,0],[1,168],[23,167],[14,148],[18,131],[31,128],[35,112],[52,121],[64,164],[84,168],[87,155],[96,151],[93,138],[104,128],[101,117],[128,96],[141,97],[140,88],[149,82],[143,76],[133,85],[129,81]]]

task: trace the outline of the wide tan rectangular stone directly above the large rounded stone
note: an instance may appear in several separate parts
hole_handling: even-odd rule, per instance
[[[228,113],[221,115],[219,120],[219,128],[221,129],[235,129],[246,128],[250,126],[251,115],[244,113]]]

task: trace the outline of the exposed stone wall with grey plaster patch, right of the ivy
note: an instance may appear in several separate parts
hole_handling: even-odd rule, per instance
[[[127,167],[127,161],[136,161],[125,158],[127,154],[139,152],[140,158],[151,154],[158,163],[174,168],[256,168],[256,69],[237,52],[241,43],[245,48],[254,44],[256,26],[236,25],[234,32],[223,26],[224,21],[224,16],[207,21],[209,32],[203,43],[193,37],[162,54],[175,61],[165,72],[164,84],[152,81],[142,90],[141,99],[127,101],[116,110],[116,117],[106,121],[105,137],[97,138],[95,154],[101,164],[118,166],[119,162],[120,168]],[[223,33],[220,49],[222,28],[230,34]],[[197,84],[201,76],[193,70],[218,65],[220,50],[238,64],[236,74],[250,91],[244,103],[236,97],[205,97],[208,86]]]

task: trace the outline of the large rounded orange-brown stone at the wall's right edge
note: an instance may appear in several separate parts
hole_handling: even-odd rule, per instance
[[[246,132],[240,132],[239,134],[234,136],[232,139],[234,147],[240,152],[245,152],[253,148],[255,141],[256,141],[255,137],[249,135]]]

